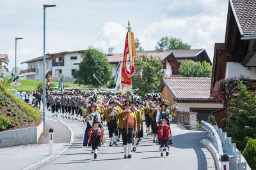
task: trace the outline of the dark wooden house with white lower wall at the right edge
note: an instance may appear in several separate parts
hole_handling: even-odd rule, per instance
[[[212,66],[211,89],[216,81],[232,76],[250,76],[256,79],[256,3],[247,0],[229,0],[225,42],[216,43]],[[214,111],[219,127],[225,127],[227,103]]]

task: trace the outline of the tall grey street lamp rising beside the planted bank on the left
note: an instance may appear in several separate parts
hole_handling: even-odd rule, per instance
[[[45,128],[45,104],[46,104],[46,99],[45,99],[45,8],[49,7],[55,7],[55,4],[43,4],[44,6],[44,73],[43,73],[43,81],[44,81],[44,88],[43,88],[43,132],[44,134],[46,133],[46,128]]]

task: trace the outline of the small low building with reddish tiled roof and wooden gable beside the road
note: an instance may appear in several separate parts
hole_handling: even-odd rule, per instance
[[[207,120],[212,111],[223,108],[210,90],[211,78],[170,76],[162,79],[158,92],[169,106],[177,104],[179,111],[196,112],[198,120]]]

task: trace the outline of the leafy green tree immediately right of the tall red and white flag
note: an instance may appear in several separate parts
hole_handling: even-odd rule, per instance
[[[136,73],[132,75],[132,89],[144,96],[149,92],[156,92],[164,73],[163,63],[159,57],[148,57],[143,54],[135,62]]]

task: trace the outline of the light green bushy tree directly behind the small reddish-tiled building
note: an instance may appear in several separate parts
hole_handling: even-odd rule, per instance
[[[179,72],[184,77],[211,77],[212,67],[209,62],[192,62],[184,60],[180,64]]]

